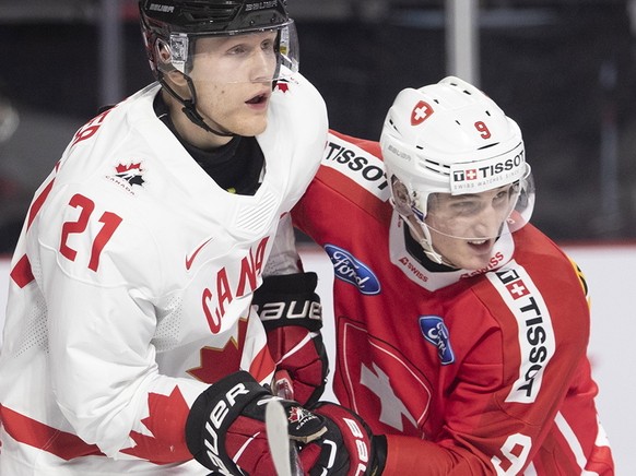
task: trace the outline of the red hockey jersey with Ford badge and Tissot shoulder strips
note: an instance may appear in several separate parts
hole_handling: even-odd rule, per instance
[[[576,264],[527,225],[490,269],[432,273],[405,250],[378,157],[332,133],[293,217],[333,263],[333,388],[387,435],[385,474],[613,474]]]

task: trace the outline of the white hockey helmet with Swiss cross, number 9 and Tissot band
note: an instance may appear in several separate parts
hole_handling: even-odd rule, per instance
[[[436,262],[425,224],[436,193],[460,195],[515,185],[507,226],[516,231],[532,214],[534,187],[517,123],[484,93],[459,78],[398,94],[380,138],[391,199]],[[408,219],[409,217],[415,218]],[[458,237],[470,239],[472,237]]]

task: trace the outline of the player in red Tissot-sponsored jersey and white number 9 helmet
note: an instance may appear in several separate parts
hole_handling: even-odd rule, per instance
[[[586,282],[533,203],[519,128],[457,78],[402,91],[380,143],[330,134],[293,219],[333,264],[333,388],[384,474],[613,474]]]

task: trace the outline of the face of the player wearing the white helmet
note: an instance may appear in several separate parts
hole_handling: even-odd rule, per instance
[[[518,187],[509,185],[481,193],[434,193],[424,223],[433,248],[454,266],[487,266],[495,241],[515,205]]]

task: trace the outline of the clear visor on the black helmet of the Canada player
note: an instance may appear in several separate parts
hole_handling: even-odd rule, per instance
[[[158,45],[164,73],[179,71],[195,83],[273,83],[298,71],[293,21],[271,29],[236,34],[170,35]]]

